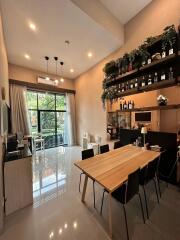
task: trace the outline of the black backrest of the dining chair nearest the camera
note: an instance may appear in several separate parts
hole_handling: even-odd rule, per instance
[[[125,203],[131,200],[134,195],[139,192],[139,175],[140,169],[137,169],[135,172],[129,174],[125,194]]]

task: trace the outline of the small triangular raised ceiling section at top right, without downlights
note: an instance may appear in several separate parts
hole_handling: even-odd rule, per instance
[[[100,0],[101,3],[123,24],[138,14],[152,0]]]

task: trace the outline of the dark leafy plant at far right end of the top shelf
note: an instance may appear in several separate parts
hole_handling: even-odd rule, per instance
[[[177,33],[174,25],[167,26],[164,28],[162,34],[162,57],[166,56],[167,47],[169,47],[169,55],[174,53],[173,47],[176,43]]]

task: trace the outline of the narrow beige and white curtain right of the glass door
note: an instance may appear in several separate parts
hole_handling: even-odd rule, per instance
[[[65,128],[67,134],[67,143],[69,146],[76,145],[76,116],[75,116],[75,96],[72,93],[66,93],[66,121]]]

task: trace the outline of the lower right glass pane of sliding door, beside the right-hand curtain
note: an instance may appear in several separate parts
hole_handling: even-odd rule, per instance
[[[65,117],[66,112],[57,112],[57,145],[67,143],[65,134]]]

